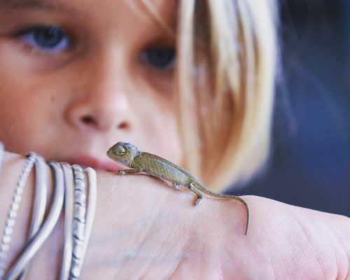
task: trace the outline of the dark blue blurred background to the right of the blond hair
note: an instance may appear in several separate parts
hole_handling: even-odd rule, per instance
[[[350,216],[350,0],[280,0],[280,13],[271,158],[233,193]]]

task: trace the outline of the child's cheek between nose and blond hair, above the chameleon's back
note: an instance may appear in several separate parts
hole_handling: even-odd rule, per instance
[[[183,165],[183,147],[177,120],[174,98],[174,73],[165,71],[144,73],[147,83],[139,84],[130,97],[134,115],[137,116],[135,144],[141,151],[154,153],[178,165]],[[141,92],[141,94],[140,94]]]

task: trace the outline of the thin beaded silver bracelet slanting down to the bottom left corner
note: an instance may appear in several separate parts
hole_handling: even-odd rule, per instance
[[[3,230],[3,238],[1,239],[0,279],[3,279],[3,274],[5,273],[6,259],[8,250],[10,248],[13,227],[15,225],[18,209],[20,208],[20,202],[22,200],[22,194],[25,188],[25,183],[28,179],[28,175],[31,171],[31,168],[33,168],[35,159],[36,156],[34,154],[28,155],[27,162],[25,164],[24,169],[22,170],[22,174],[20,175],[20,180],[18,181],[17,186],[15,188],[15,195],[13,197],[12,204],[10,206],[10,211],[8,212],[8,216],[6,219],[5,229]]]

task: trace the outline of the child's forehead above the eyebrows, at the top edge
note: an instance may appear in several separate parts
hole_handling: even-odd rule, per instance
[[[90,22],[144,22],[145,28],[161,27],[174,36],[176,0],[0,0],[0,8],[10,10],[45,10],[66,13],[72,18],[89,18]],[[123,20],[124,18],[124,20]]]

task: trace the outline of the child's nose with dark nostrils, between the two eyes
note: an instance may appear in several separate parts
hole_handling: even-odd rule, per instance
[[[75,72],[76,87],[66,113],[69,123],[82,130],[129,130],[133,123],[127,94],[130,77],[123,57],[118,52],[95,55]]]

